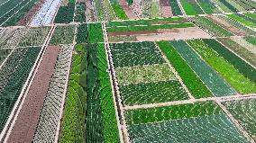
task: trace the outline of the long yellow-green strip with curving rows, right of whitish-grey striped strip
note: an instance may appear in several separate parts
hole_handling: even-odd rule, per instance
[[[85,142],[87,109],[87,49],[75,47],[69,74],[69,86],[61,121],[59,142]]]

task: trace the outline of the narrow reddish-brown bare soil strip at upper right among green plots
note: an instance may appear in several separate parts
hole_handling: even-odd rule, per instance
[[[218,21],[217,19],[215,19],[215,17],[213,16],[209,16],[207,15],[206,16],[209,20],[217,23],[218,25],[222,26],[225,30],[227,31],[231,31],[233,32],[234,34],[236,34],[237,36],[247,36],[248,34],[246,34],[244,31],[236,28],[236,27],[233,27],[233,26],[228,26],[226,24],[224,24],[224,22],[221,22],[221,21]]]

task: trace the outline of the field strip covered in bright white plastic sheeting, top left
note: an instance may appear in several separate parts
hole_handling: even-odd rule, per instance
[[[47,0],[40,11],[33,17],[31,26],[50,24],[58,10],[61,0]]]

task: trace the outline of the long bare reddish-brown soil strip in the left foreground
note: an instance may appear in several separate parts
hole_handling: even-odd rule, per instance
[[[32,142],[58,53],[59,47],[47,47],[45,49],[40,66],[7,142]]]

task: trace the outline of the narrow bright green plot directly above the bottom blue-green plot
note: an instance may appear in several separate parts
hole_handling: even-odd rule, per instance
[[[189,103],[165,107],[138,109],[125,112],[128,124],[142,124],[157,121],[169,121],[200,117],[204,115],[222,114],[221,108],[214,102]]]

